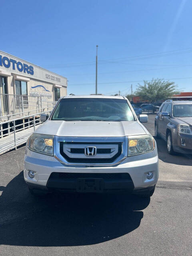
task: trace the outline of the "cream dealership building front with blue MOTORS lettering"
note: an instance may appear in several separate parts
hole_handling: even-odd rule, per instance
[[[30,102],[29,96],[39,97],[44,102],[54,102],[66,94],[67,78],[0,51],[1,115],[13,111],[10,111],[10,96],[16,98],[14,108],[18,107],[18,100],[21,98],[23,101],[25,97],[26,108]]]

